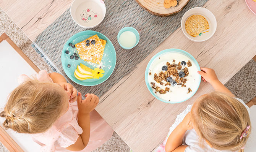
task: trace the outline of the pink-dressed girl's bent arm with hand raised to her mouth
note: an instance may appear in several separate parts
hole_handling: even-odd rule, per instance
[[[50,78],[54,83],[59,84],[64,90],[70,92],[71,102],[75,102],[77,99],[77,90],[69,83],[66,82],[66,79],[59,73],[49,73]]]

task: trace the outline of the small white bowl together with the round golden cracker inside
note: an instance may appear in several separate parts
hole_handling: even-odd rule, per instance
[[[206,41],[214,35],[217,21],[214,14],[206,8],[191,8],[181,19],[181,29],[191,41]]]

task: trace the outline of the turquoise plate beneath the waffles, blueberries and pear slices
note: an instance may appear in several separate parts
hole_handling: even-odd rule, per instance
[[[104,39],[104,40],[107,41],[106,47],[107,47],[107,45],[108,45],[109,49],[111,49],[111,50],[110,50],[110,53],[113,54],[113,55],[112,55],[112,60],[111,60],[111,61],[112,61],[112,65],[111,65],[111,68],[108,70],[108,73],[106,72],[105,69],[103,69],[103,70],[105,71],[105,73],[104,73],[104,76],[99,79],[99,80],[101,80],[101,81],[88,82],[88,80],[90,80],[90,79],[86,79],[86,80],[83,80],[83,81],[78,80],[78,79],[75,78],[75,76],[74,76],[73,73],[70,74],[70,72],[66,69],[66,65],[63,64],[63,62],[64,62],[64,60],[65,60],[65,55],[67,55],[67,54],[65,54],[66,48],[67,48],[67,47],[70,47],[70,46],[68,46],[68,43],[70,43],[70,42],[76,40],[77,38],[80,38],[80,37],[82,36],[81,34],[83,34],[83,35],[91,35],[91,36],[97,34],[97,35],[99,36],[99,38]],[[78,36],[78,35],[81,35],[81,36]],[[86,38],[89,38],[89,36],[86,37]],[[86,38],[84,38],[84,40],[85,40]],[[81,41],[83,41],[83,40],[81,40]],[[77,42],[77,43],[79,43],[79,42]],[[74,44],[76,44],[76,43],[74,43]],[[106,49],[106,47],[105,47],[105,49]],[[72,48],[72,49],[73,49],[73,48]],[[74,48],[74,49],[75,49],[75,51],[76,51],[76,53],[77,53],[76,48]],[[78,54],[78,53],[77,53],[77,54]],[[105,54],[105,50],[104,50],[104,54]],[[68,54],[68,55],[70,56],[71,54]],[[78,57],[79,57],[79,55],[78,55]],[[103,58],[104,58],[104,56],[103,56]],[[103,58],[102,58],[102,60],[103,60]],[[75,59],[72,59],[72,60],[75,60]],[[79,59],[78,59],[77,61],[79,61],[79,63],[83,63],[83,64],[84,64],[84,63],[87,63],[86,61],[81,60],[80,57],[79,57]],[[66,75],[68,76],[68,78],[70,78],[72,81],[74,81],[74,82],[76,82],[77,84],[80,84],[80,85],[82,85],[82,86],[96,86],[96,85],[101,84],[102,82],[106,81],[106,80],[111,76],[111,74],[113,73],[113,71],[114,71],[114,69],[115,69],[116,61],[117,61],[117,55],[116,55],[116,52],[115,52],[115,47],[113,46],[113,44],[112,44],[112,42],[109,40],[109,38],[107,38],[107,36],[103,35],[102,33],[99,33],[99,32],[96,32],[96,31],[92,31],[92,30],[86,30],[86,31],[78,32],[78,33],[76,33],[75,35],[71,36],[71,37],[68,39],[68,41],[66,41],[66,43],[65,43],[65,45],[63,46],[63,49],[62,49],[61,62],[62,62],[62,67],[63,67],[64,72],[66,73]],[[88,62],[88,63],[89,63],[89,62]],[[88,66],[88,65],[87,65],[89,68],[92,68],[92,69],[93,69],[93,68],[96,68],[96,67],[97,67],[97,64],[96,64],[96,63],[90,63],[90,64],[92,64],[92,65],[94,65],[94,66],[91,67],[91,66]],[[72,65],[71,65],[71,66],[72,66]],[[75,65],[75,67],[76,67],[76,66],[77,66],[77,65]],[[75,70],[74,70],[74,71],[75,71]],[[107,73],[107,76],[106,76],[106,73]]]

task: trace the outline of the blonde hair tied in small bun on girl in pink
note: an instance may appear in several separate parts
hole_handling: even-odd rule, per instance
[[[18,133],[42,133],[63,113],[64,90],[50,82],[28,79],[9,95],[4,111],[3,128]]]

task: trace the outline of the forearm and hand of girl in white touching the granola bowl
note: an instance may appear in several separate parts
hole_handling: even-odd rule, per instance
[[[201,68],[201,71],[198,71],[198,73],[203,77],[204,82],[209,82],[215,91],[227,93],[230,95],[230,97],[235,97],[230,90],[228,90],[217,78],[215,71],[210,68]]]

